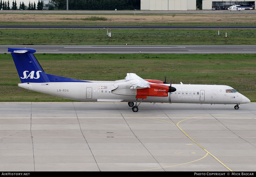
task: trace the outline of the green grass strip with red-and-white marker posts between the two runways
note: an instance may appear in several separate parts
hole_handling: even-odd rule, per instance
[[[255,45],[254,29],[0,29],[0,45]]]

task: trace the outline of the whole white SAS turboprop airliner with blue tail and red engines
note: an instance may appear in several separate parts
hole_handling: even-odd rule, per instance
[[[116,81],[83,81],[46,74],[34,55],[35,49],[8,48],[8,52],[11,52],[19,74],[19,87],[63,98],[90,102],[128,102],[133,112],[138,111],[142,102],[235,104],[235,109],[239,108],[239,104],[250,103],[247,97],[227,85],[181,82],[173,87],[172,83],[142,79],[135,73],[127,73],[123,80]]]

